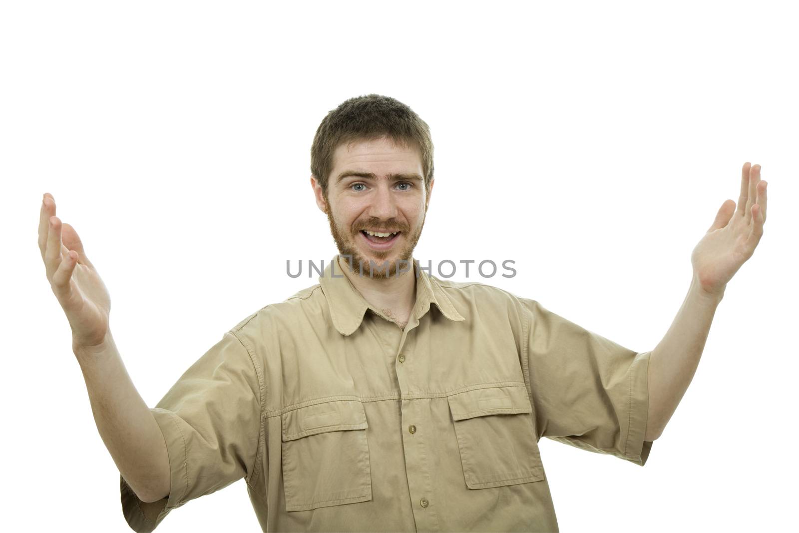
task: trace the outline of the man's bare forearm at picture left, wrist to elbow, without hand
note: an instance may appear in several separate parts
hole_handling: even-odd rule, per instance
[[[110,332],[91,350],[74,348],[89,392],[97,431],[122,477],[143,501],[169,495],[164,436],[130,380]]]

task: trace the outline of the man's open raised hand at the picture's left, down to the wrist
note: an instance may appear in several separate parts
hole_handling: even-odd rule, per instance
[[[55,216],[50,193],[44,194],[39,215],[39,249],[50,288],[70,321],[73,351],[98,347],[109,332],[111,297],[78,233]]]

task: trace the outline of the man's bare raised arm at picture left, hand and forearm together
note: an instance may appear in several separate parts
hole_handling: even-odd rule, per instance
[[[105,447],[142,501],[165,498],[171,482],[164,436],[113,342],[108,290],[86,257],[78,233],[55,216],[55,199],[49,193],[42,200],[38,245],[47,280],[72,328],[73,352]]]

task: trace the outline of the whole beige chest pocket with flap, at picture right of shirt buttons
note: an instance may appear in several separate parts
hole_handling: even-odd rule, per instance
[[[447,396],[469,488],[544,479],[527,388],[479,388]]]

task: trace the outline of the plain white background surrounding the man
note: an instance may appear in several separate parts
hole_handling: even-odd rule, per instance
[[[415,257],[513,259],[517,276],[485,282],[639,352],[741,165],[762,165],[765,235],[646,466],[540,449],[562,531],[793,523],[799,21],[787,3],[554,3],[4,2],[5,523],[129,531],[38,250],[42,194],[109,288],[153,406],[239,320],[316,283],[285,274],[336,253],[310,146],[366,93],[431,127]],[[157,531],[223,528],[260,531],[243,481]]]

